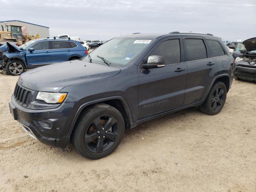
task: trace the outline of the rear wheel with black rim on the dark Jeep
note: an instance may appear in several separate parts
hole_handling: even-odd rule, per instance
[[[227,88],[223,82],[216,82],[210,93],[208,94],[204,103],[199,106],[199,109],[206,114],[216,115],[218,114],[226,102]]]

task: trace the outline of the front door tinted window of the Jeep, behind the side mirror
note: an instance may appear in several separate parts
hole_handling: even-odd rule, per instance
[[[165,59],[165,64],[180,62],[180,40],[172,39],[162,42],[150,55],[160,55]]]

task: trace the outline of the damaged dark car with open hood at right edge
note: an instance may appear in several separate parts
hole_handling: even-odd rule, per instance
[[[244,50],[236,57],[234,79],[256,81],[256,37],[243,42]]]

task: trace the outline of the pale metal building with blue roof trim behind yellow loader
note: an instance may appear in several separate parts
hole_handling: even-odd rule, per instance
[[[40,38],[47,38],[50,36],[49,27],[19,20],[0,21],[0,31],[10,31],[10,28],[8,28],[10,25],[25,27],[26,33],[29,35],[39,34]]]

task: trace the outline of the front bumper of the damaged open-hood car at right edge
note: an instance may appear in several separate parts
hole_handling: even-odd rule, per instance
[[[256,81],[256,66],[236,66],[234,75],[242,80]]]

